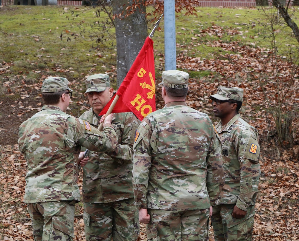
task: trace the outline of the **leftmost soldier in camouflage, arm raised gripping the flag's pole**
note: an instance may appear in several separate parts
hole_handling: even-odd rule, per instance
[[[72,90],[66,78],[42,84],[45,105],[19,127],[19,149],[28,163],[24,202],[34,240],[73,240],[75,203],[80,201],[78,163],[81,146],[112,152],[118,145],[112,115],[103,132],[65,113]],[[109,123],[110,121],[110,123]],[[86,158],[87,159],[87,158]]]

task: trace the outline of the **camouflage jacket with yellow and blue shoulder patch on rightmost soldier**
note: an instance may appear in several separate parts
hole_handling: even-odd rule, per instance
[[[225,126],[221,121],[216,130],[222,142],[225,184],[219,204],[236,203],[247,210],[255,205],[260,177],[260,145],[257,129],[235,115]]]

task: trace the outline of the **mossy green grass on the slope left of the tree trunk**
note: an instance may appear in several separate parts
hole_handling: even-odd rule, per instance
[[[0,61],[15,63],[11,67],[12,74],[26,70],[33,78],[38,77],[33,71],[42,69],[57,75],[57,69],[74,68],[74,72],[66,72],[71,79],[79,78],[81,73],[106,71],[107,68],[102,66],[115,65],[116,58],[111,54],[116,51],[103,49],[100,51],[102,59],[97,59],[95,54],[99,51],[91,50],[88,36],[71,36],[72,33],[80,33],[82,22],[94,20],[94,10],[74,17],[70,10],[61,6],[3,7]],[[84,29],[86,33],[90,30],[87,24]]]

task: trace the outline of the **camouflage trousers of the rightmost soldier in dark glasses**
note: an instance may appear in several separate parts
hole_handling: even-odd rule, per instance
[[[213,207],[211,222],[215,241],[251,241],[254,223],[254,206],[251,205],[246,216],[235,219],[231,215],[236,204],[222,204]]]

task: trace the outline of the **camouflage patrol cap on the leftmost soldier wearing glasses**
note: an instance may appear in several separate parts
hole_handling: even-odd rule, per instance
[[[42,81],[42,92],[59,92],[66,89],[73,92],[73,90],[68,87],[67,78],[51,77]]]

